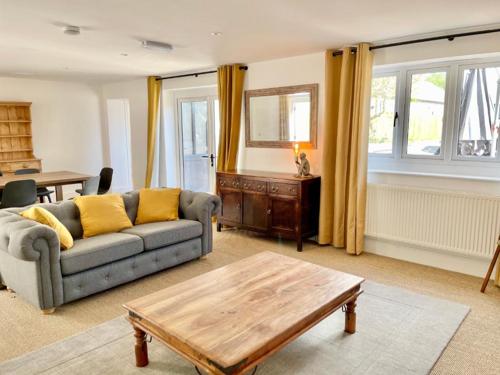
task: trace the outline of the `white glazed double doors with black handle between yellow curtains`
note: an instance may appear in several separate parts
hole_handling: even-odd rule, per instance
[[[213,192],[215,181],[214,125],[216,97],[178,99],[178,120],[181,149],[181,182],[184,189]]]

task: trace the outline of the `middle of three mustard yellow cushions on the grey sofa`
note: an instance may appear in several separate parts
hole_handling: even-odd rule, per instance
[[[131,228],[121,194],[83,195],[73,201],[80,210],[83,238]]]

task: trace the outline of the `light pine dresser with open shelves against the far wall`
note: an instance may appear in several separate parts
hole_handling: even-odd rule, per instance
[[[41,159],[33,155],[31,103],[0,101],[0,170],[4,176],[17,169],[41,171]]]

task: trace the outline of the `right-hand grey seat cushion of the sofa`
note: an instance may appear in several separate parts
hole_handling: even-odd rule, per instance
[[[180,219],[139,224],[123,229],[120,233],[141,237],[144,242],[144,250],[152,250],[198,237],[202,232],[203,226],[199,221]]]

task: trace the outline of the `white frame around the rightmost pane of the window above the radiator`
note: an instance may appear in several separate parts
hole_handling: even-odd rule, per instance
[[[484,157],[484,156],[458,156],[456,154],[456,147],[458,144],[458,121],[460,120],[460,100],[462,97],[462,81],[463,81],[463,71],[465,69],[480,69],[484,67],[500,67],[500,62],[483,62],[483,63],[472,63],[472,64],[458,64],[458,72],[456,77],[456,97],[455,97],[455,107],[454,107],[454,121],[453,121],[453,138],[451,143],[451,160],[459,161],[482,161],[482,162],[500,162],[500,150],[496,149],[495,157]],[[500,137],[499,137],[500,138]],[[498,142],[498,140],[497,140]]]

